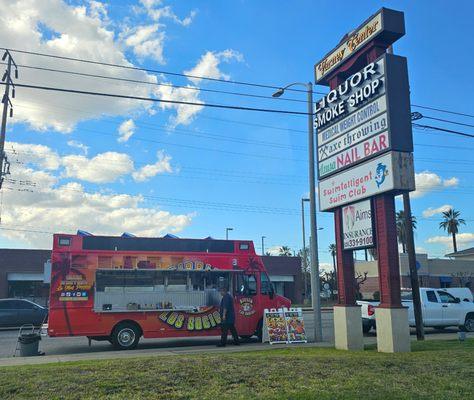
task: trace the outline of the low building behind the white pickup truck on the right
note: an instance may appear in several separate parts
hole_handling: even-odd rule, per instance
[[[420,287],[446,288],[446,287],[469,287],[474,291],[474,249],[471,250],[471,259],[467,256],[447,258],[428,258],[427,254],[416,255],[416,266]],[[448,254],[455,257],[455,254]],[[459,259],[458,259],[459,258]],[[364,298],[373,298],[374,293],[379,292],[379,277],[377,261],[356,261],[356,276],[360,284],[360,293]],[[402,289],[410,289],[410,270],[408,267],[408,255],[400,254],[400,277]]]

